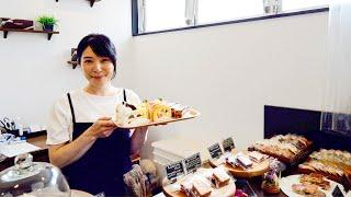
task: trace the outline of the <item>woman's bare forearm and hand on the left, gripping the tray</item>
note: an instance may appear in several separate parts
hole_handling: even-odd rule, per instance
[[[58,167],[73,163],[91,148],[98,138],[109,137],[115,128],[110,117],[100,118],[73,141],[49,146],[50,163]]]

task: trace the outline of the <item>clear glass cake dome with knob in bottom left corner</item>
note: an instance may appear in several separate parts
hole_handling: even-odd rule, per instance
[[[70,197],[61,171],[44,162],[32,162],[31,154],[14,159],[14,166],[0,172],[0,197]]]

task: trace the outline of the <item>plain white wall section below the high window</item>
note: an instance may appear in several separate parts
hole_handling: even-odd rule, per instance
[[[317,13],[134,37],[137,92],[202,113],[151,129],[149,142],[186,138],[205,149],[233,136],[244,148],[263,138],[263,105],[320,109],[327,25]]]

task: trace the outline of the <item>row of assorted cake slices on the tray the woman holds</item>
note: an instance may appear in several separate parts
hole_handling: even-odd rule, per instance
[[[123,128],[135,128],[189,119],[199,116],[200,113],[189,106],[158,99],[150,102],[144,101],[137,106],[125,102],[120,103],[115,114],[116,125]]]

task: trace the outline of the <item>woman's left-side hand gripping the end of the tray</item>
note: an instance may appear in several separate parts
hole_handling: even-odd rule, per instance
[[[87,134],[92,136],[93,138],[106,138],[109,137],[114,129],[116,129],[116,125],[112,121],[111,117],[102,117],[99,118],[92,126],[87,129]]]

